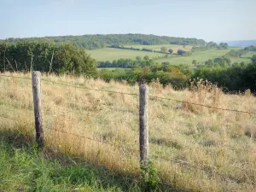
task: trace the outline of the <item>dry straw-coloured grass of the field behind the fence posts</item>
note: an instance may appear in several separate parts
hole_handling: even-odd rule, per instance
[[[30,77],[29,74],[13,73]],[[93,89],[138,93],[138,86],[100,79],[44,76],[54,82]],[[0,77],[1,127],[33,133],[32,86],[28,79]],[[42,81],[44,130],[47,148],[76,155],[106,166],[109,172],[137,175],[138,98],[95,90],[50,84]],[[214,85],[175,91],[155,81],[152,96],[256,112],[256,99],[246,95],[224,95]],[[105,143],[75,137],[61,130],[132,148],[114,148]],[[189,191],[256,191],[255,116],[213,110],[178,102],[149,100],[151,160],[160,177],[176,189]],[[159,156],[162,159],[154,159]],[[168,161],[170,159],[174,161]],[[189,166],[188,166],[189,165]]]

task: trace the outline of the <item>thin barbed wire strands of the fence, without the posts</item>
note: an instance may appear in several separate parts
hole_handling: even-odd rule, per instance
[[[18,79],[32,80],[30,78],[19,77],[19,76],[12,76],[12,75],[0,75],[0,77],[3,77],[3,78],[14,78],[15,77],[15,78],[18,78]],[[121,95],[129,95],[129,96],[139,96],[139,94],[136,94],[136,93],[125,93],[125,92],[121,92],[121,91],[93,89],[93,88],[87,88],[87,87],[77,86],[77,85],[73,85],[73,84],[63,84],[63,83],[59,83],[59,82],[50,81],[50,80],[47,80],[47,79],[42,79],[42,81],[46,82],[46,83],[49,83],[49,84],[57,84],[57,85],[66,86],[66,87],[73,87],[73,88],[81,89],[81,90],[95,90],[95,91],[102,91],[102,92],[108,92],[108,93],[113,93],[113,94],[121,94]],[[4,87],[2,86],[0,89],[4,89]],[[12,90],[12,89],[9,89],[9,90]],[[23,92],[26,92],[26,93],[28,92],[27,90],[15,90],[15,89],[13,89],[12,91],[23,91]],[[160,97],[160,96],[148,96],[148,97],[149,97],[149,99],[167,100],[167,101],[171,101],[171,102],[187,103],[187,104],[191,104],[191,105],[195,105],[195,106],[200,106],[200,107],[204,107],[204,108],[212,108],[212,109],[217,109],[217,110],[222,110],[222,111],[229,111],[231,113],[248,113],[248,114],[256,115],[256,113],[250,112],[250,111],[242,111],[242,110],[229,109],[229,108],[216,108],[216,107],[213,107],[213,106],[203,105],[201,103],[186,102],[186,101],[183,101],[183,100],[176,100],[176,99]],[[83,108],[83,107],[86,108],[86,103],[84,103],[84,102],[75,101],[75,102],[67,102],[67,104],[69,104],[69,105],[71,105],[71,104],[72,105],[82,104],[82,106],[79,105],[79,107],[80,108]],[[0,104],[0,107],[1,106],[3,106],[3,105]],[[12,106],[12,107],[15,107],[15,106]],[[137,111],[133,111],[133,110],[129,110],[129,109],[124,109],[124,108],[115,108],[115,107],[108,106],[108,105],[102,105],[102,108],[108,108],[110,110],[118,111],[120,113],[132,113],[132,114],[135,114],[135,115],[139,114]],[[20,110],[22,108],[15,108],[15,109],[19,109]],[[7,110],[15,113],[15,109],[10,109],[9,108]],[[62,112],[65,112],[65,111],[67,113],[74,113],[75,112],[74,110],[69,110],[69,108],[65,108],[65,109],[62,108]],[[13,120],[15,122],[19,122],[19,119],[10,118],[10,117],[4,116],[2,114],[0,114],[0,117],[3,118],[3,119],[9,119],[9,120]],[[177,120],[177,119],[169,118],[168,120],[172,121],[172,122],[179,123],[179,124],[186,124],[186,125],[191,125],[192,124],[191,122],[180,121],[180,120]],[[128,147],[125,147],[125,145],[111,143],[111,142],[100,140],[100,139],[96,139],[96,138],[93,138],[93,137],[84,137],[82,135],[75,134],[73,132],[59,130],[59,129],[51,128],[49,126],[46,126],[45,129],[50,130],[50,131],[58,131],[58,132],[61,132],[61,133],[67,134],[67,135],[72,135],[74,137],[79,137],[79,138],[90,140],[90,141],[93,141],[93,142],[96,142],[96,143],[104,143],[104,144],[107,144],[109,146],[113,146],[114,148],[122,149],[124,151],[129,151],[129,152],[133,152],[133,153],[139,153],[138,149],[128,148]],[[215,172],[215,173],[218,173],[220,175],[220,177],[224,177],[222,175],[222,173],[220,173],[218,171],[218,168],[213,167],[213,166],[210,167],[210,168],[208,167],[206,169],[205,167],[192,165],[192,164],[190,164],[189,162],[187,162],[185,160],[177,160],[175,158],[161,157],[160,155],[155,155],[155,154],[150,156],[150,158],[152,158],[154,160],[165,160],[166,162],[174,163],[174,164],[177,164],[179,166],[187,166],[189,168],[201,170],[203,172],[208,172],[210,174],[211,174],[211,172]],[[244,183],[250,183],[250,182],[244,181]],[[166,183],[166,184],[168,184],[168,183]],[[250,184],[256,185],[255,183],[250,183]]]

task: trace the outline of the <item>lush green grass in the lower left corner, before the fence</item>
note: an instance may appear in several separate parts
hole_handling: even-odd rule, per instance
[[[3,128],[3,127],[1,127]],[[140,191],[136,179],[108,174],[47,150],[19,132],[0,132],[0,191]],[[56,156],[57,155],[57,156]]]

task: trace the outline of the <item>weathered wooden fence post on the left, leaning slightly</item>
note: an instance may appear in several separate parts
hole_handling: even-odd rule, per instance
[[[41,98],[41,73],[32,72],[32,91],[34,102],[36,140],[39,148],[44,147],[44,130],[43,130],[43,105]]]

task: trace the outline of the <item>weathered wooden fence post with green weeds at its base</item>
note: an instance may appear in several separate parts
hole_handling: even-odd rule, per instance
[[[148,163],[148,86],[140,85],[140,160]]]

